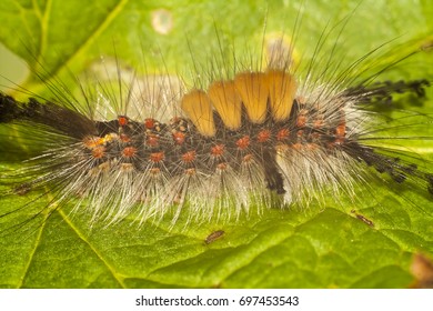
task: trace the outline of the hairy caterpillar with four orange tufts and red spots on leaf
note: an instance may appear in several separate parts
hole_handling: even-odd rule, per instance
[[[187,117],[170,123],[143,112],[141,120],[124,113],[98,121],[90,117],[94,112],[2,96],[1,122],[31,122],[52,144],[30,161],[30,179],[14,191],[56,184],[56,204],[82,198],[77,209],[84,204],[95,219],[113,220],[138,207],[141,222],[170,209],[177,210],[175,221],[187,201],[199,217],[215,210],[230,217],[230,205],[239,217],[254,200],[269,205],[272,193],[285,204],[301,204],[328,188],[338,197],[344,187],[353,191],[353,177],[366,167],[395,182],[417,177],[433,192],[431,174],[362,143],[363,124],[372,122],[365,101],[394,91],[423,96],[427,81],[319,92],[299,83],[290,68],[241,72],[183,94]],[[137,103],[121,111],[129,104]]]

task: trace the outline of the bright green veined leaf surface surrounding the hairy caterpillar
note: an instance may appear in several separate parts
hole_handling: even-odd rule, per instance
[[[433,39],[431,1],[269,2],[3,0],[0,41],[29,67],[21,86],[46,94],[51,82],[77,89],[70,72],[80,77],[101,54],[131,67],[142,68],[145,60],[148,72],[180,74],[194,66],[209,73],[207,60],[215,53],[221,57],[225,44],[233,44],[245,59],[260,59],[264,21],[266,33],[298,34],[292,39],[304,61],[321,38],[326,40],[319,48],[331,50],[338,43],[332,57],[344,56],[348,63],[397,38],[383,48],[390,48],[391,56],[373,58],[370,64],[377,67]],[[171,14],[168,34],[151,23],[152,12],[159,9]],[[296,21],[300,10],[302,22]],[[334,24],[343,26],[343,41],[335,41]],[[295,33],[293,26],[300,26]],[[414,56],[385,78],[433,80],[432,53]],[[432,91],[429,97],[421,107],[405,108],[431,113]],[[413,148],[432,160],[431,142]],[[17,162],[2,160],[0,168],[19,167]],[[424,165],[432,169],[431,162]],[[47,194],[37,204],[0,218],[0,228],[20,224],[41,210],[46,218],[39,227],[18,227],[0,235],[0,287],[406,288],[414,281],[413,255],[433,255],[432,198],[412,185],[373,179],[367,187],[356,187],[354,200],[326,198],[324,207],[269,209],[226,222],[187,223],[183,214],[174,228],[169,220],[138,228],[130,219],[91,228],[89,217],[72,215],[70,207],[48,217],[43,208],[52,198]],[[0,213],[19,209],[37,195],[2,198]],[[216,230],[224,234],[207,243]]]

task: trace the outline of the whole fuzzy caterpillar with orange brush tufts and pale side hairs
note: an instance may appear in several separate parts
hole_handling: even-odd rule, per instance
[[[354,193],[372,174],[395,183],[409,177],[432,193],[429,171],[374,144],[382,119],[371,110],[395,93],[423,98],[430,82],[354,82],[363,59],[328,76],[333,56],[318,70],[319,53],[300,69],[284,40],[270,46],[263,68],[240,67],[188,91],[169,74],[137,87],[117,63],[118,88],[97,81],[82,90],[85,104],[72,94],[43,102],[2,93],[0,122],[30,127],[44,148],[18,171],[23,180],[10,193],[52,189],[48,210],[72,202],[92,222],[171,214],[173,224],[185,205],[191,220],[238,219],[252,205],[302,207]],[[173,79],[179,89],[170,89]]]

